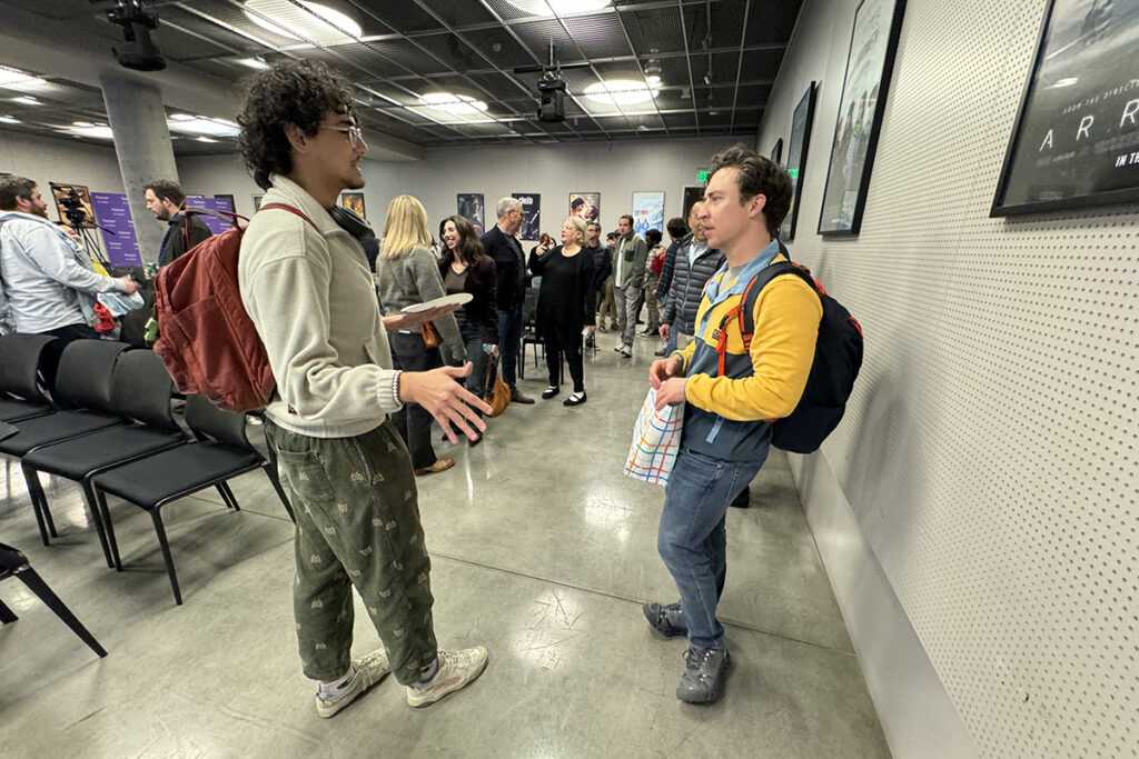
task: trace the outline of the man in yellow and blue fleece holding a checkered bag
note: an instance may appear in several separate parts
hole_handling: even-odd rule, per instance
[[[763,465],[771,420],[798,404],[822,317],[819,296],[794,274],[771,280],[755,299],[749,347],[736,315],[748,282],[786,261],[772,236],[790,206],[787,172],[737,145],[712,159],[704,199],[699,218],[708,245],[727,261],[704,289],[696,340],[649,368],[657,407],[685,404],[685,428],[657,533],[680,601],[648,603],[644,611],[663,635],[688,636],[677,686],[688,703],[714,701],[728,669],[715,616],[727,574],[728,504]]]

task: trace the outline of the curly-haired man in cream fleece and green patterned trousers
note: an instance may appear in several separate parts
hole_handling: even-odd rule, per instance
[[[277,380],[265,431],[296,514],[294,617],[304,674],[320,680],[317,712],[331,717],[390,671],[410,706],[427,706],[478,677],[486,650],[436,647],[415,476],[387,414],[418,403],[454,443],[452,426],[470,439],[485,429],[472,406],[491,410],[456,382],[469,363],[392,370],[385,332],[453,307],[382,316],[363,249],[329,214],[364,183],[347,81],[320,61],[278,64],[255,75],[238,123],[268,190],[238,281]],[[353,586],[384,643],[357,660]]]

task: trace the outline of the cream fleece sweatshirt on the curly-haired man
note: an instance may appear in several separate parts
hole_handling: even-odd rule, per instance
[[[241,239],[241,302],[265,345],[274,424],[311,437],[352,437],[400,409],[368,259],[355,239],[292,180],[273,174]]]

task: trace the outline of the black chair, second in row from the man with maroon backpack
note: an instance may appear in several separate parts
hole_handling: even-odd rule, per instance
[[[134,423],[108,427],[64,443],[44,445],[21,460],[24,478],[34,484],[31,488],[32,508],[42,513],[40,523],[52,523],[39,479],[39,472],[47,472],[74,480],[83,487],[83,495],[93,514],[92,521],[101,533],[103,519],[91,489],[91,478],[101,471],[188,443],[171,412],[173,391],[174,383],[162,358],[150,350],[123,353],[112,374],[110,409],[124,419],[134,420]],[[47,543],[47,535],[42,537]],[[103,543],[106,545],[106,539]],[[120,566],[117,555],[112,555],[112,560],[107,566]]]

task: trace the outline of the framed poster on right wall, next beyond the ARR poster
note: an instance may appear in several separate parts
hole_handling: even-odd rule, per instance
[[[819,234],[858,234],[882,131],[906,0],[862,0],[838,101]]]

